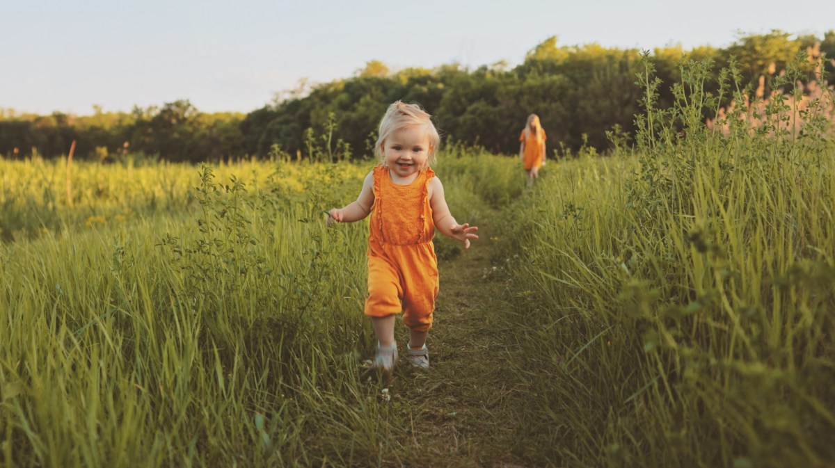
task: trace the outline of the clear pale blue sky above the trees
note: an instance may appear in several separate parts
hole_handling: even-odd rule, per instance
[[[89,114],[189,99],[250,112],[301,78],[507,61],[562,45],[725,47],[835,29],[835,0],[2,0],[0,108]]]

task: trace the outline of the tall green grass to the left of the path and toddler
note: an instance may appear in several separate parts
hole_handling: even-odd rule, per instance
[[[456,216],[478,222],[462,168],[493,159],[441,159]],[[6,213],[45,216],[39,194],[57,183],[33,188],[27,171],[63,163],[3,164],[23,178],[7,188],[37,200],[27,213],[7,199]],[[397,460],[416,416],[361,376],[375,345],[362,315],[367,226],[326,229],[323,214],[357,197],[370,164],[156,169],[180,181],[164,207],[73,224],[84,214],[63,209],[119,206],[162,177],[79,165],[78,180],[110,174],[109,197],[58,202],[38,223],[59,229],[0,244],[0,464]]]

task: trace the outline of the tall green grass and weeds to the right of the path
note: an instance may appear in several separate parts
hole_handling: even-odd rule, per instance
[[[647,63],[638,155],[570,161],[509,214],[529,460],[835,459],[835,147],[823,128],[706,130],[708,66],[683,63],[659,111]]]

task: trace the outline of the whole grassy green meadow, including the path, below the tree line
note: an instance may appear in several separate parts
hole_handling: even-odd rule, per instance
[[[438,239],[433,369],[386,385],[367,227],[323,214],[373,161],[73,162],[68,191],[66,160],[0,160],[0,460],[831,465],[835,144],[779,105],[706,128],[692,67],[668,110],[647,69],[635,146],[533,189],[439,155],[483,239]]]

